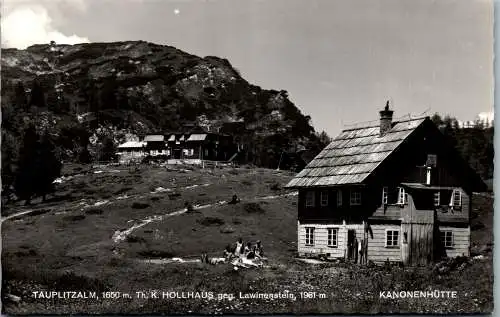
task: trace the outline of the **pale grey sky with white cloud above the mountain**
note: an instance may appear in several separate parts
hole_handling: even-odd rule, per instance
[[[316,130],[395,116],[493,109],[486,0],[4,0],[2,45],[145,40],[227,58],[287,90]]]

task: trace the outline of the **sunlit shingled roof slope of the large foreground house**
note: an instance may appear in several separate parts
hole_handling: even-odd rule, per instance
[[[361,184],[426,118],[393,121],[382,136],[378,123],[344,129],[286,187]]]

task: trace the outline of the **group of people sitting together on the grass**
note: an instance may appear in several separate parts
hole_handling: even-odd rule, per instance
[[[262,260],[264,258],[264,251],[262,248],[262,243],[257,241],[255,244],[251,242],[243,243],[243,239],[238,239],[236,246],[228,245],[224,250],[223,258],[209,258],[207,254],[201,255],[201,262],[208,264],[219,264],[230,262],[231,264],[242,267],[262,265]]]

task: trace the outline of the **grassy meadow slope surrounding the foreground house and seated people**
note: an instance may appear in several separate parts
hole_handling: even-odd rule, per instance
[[[426,268],[360,267],[296,260],[296,196],[282,186],[288,172],[66,166],[67,177],[34,212],[4,220],[4,312],[22,313],[360,313],[487,312],[492,309],[492,198],[474,197],[472,244],[482,257]],[[236,194],[241,202],[224,203]],[[184,212],[185,202],[194,211]],[[9,206],[8,214],[29,211]],[[484,226],[478,225],[482,223]],[[117,239],[117,237],[123,239]],[[261,240],[266,267],[167,263],[222,255],[239,237]],[[490,249],[488,249],[490,248]],[[148,262],[157,260],[155,263]],[[467,279],[463,277],[467,276]],[[141,290],[272,293],[326,298],[296,300],[158,300]],[[455,290],[458,298],[391,300],[380,291]],[[120,291],[134,298],[43,300],[33,290]],[[20,296],[20,302],[5,298]],[[319,296],[319,295],[318,295]]]

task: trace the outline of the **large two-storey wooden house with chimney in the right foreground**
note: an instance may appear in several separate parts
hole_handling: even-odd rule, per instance
[[[286,186],[298,253],[421,265],[470,255],[472,193],[486,185],[429,117],[343,130]]]

